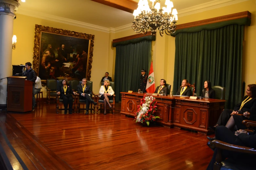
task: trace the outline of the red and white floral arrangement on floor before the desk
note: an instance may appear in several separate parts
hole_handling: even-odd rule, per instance
[[[137,106],[137,112],[134,113],[136,122],[146,122],[149,126],[149,122],[155,121],[157,118],[160,119],[159,116],[154,115],[157,110],[156,103],[154,97],[145,94]]]

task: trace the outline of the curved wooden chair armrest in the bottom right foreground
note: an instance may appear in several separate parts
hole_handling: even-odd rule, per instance
[[[222,142],[220,140],[213,140],[209,141],[207,145],[211,148],[218,148],[218,149],[225,149],[225,150],[230,150],[230,151],[235,151],[235,152],[241,152],[241,153],[250,153],[250,154],[256,154],[256,150],[253,148],[249,147],[243,147],[243,146],[238,146],[238,145],[232,145],[226,142]]]

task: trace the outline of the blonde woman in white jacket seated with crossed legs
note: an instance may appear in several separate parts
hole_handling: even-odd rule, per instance
[[[99,93],[101,94],[100,95],[101,100],[104,101],[104,108],[105,108],[104,115],[105,115],[107,104],[108,104],[109,108],[112,109],[111,105],[109,104],[109,100],[112,100],[113,95],[115,94],[112,87],[109,86],[109,81],[108,80],[104,81],[104,85],[101,86],[101,89],[100,89]]]

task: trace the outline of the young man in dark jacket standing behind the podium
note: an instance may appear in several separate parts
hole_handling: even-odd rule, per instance
[[[26,70],[23,73],[23,76],[26,76],[27,79],[29,81],[33,82],[33,91],[32,91],[32,110],[35,110],[35,95],[33,94],[33,92],[35,91],[35,81],[36,81],[36,72],[34,70],[32,70],[31,68],[32,64],[30,62],[27,62],[25,64],[25,68]]]

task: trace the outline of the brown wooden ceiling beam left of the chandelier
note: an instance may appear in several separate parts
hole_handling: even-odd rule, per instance
[[[91,1],[98,2],[103,5],[114,7],[130,13],[133,13],[133,11],[138,7],[138,3],[132,0],[91,0]]]

